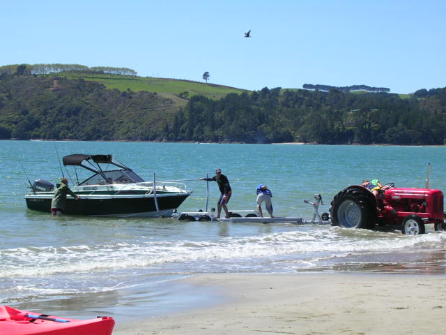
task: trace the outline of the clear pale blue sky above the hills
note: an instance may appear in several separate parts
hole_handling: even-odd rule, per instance
[[[446,87],[446,1],[3,0],[0,65],[82,64],[243,89]],[[252,38],[244,33],[252,30]]]

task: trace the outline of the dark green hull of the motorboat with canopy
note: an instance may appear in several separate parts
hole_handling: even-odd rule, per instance
[[[180,193],[175,195],[162,195],[157,197],[160,215],[169,216],[174,209],[190,195]],[[34,211],[51,211],[51,195],[29,193],[25,196],[26,206]],[[153,195],[142,196],[99,196],[81,195],[80,200],[67,198],[66,209],[63,214],[68,215],[95,215],[95,216],[119,216],[119,217],[156,217],[158,211]]]

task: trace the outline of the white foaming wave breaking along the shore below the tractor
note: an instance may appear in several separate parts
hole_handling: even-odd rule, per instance
[[[381,253],[444,245],[446,234],[417,236],[324,228],[275,232],[217,241],[117,242],[102,245],[24,247],[0,251],[0,277],[47,276],[110,269],[159,267],[173,262],[243,262],[295,255],[305,262],[346,253]]]

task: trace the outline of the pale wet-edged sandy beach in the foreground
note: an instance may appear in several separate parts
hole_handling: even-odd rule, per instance
[[[113,334],[445,334],[445,276],[210,274],[185,281],[224,299],[118,322]]]

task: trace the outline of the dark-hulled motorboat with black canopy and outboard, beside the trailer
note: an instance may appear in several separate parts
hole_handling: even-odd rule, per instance
[[[75,169],[75,181],[70,187],[80,200],[67,196],[64,214],[161,217],[171,216],[192,194],[185,184],[178,181],[144,181],[123,163],[114,161],[112,155],[71,154],[62,158],[63,165]],[[77,167],[93,173],[79,181]],[[68,170],[67,170],[68,172]],[[31,185],[31,182],[30,182]],[[36,179],[31,191],[25,195],[26,206],[34,211],[51,210],[54,184]]]

